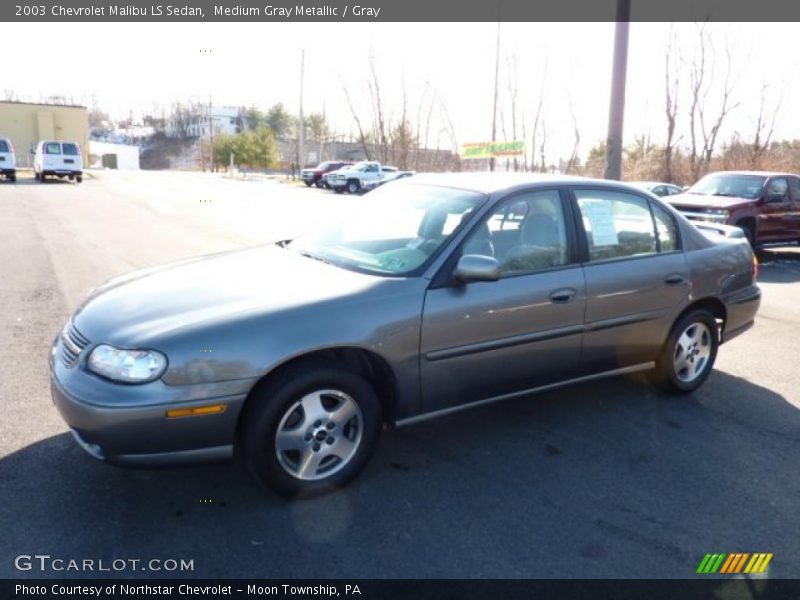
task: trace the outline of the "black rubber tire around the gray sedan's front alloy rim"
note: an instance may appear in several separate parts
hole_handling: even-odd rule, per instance
[[[318,475],[320,478],[315,480],[300,479],[279,460],[276,436],[292,407],[307,394],[319,390],[339,390],[355,402],[361,414],[359,419],[350,421],[350,424],[357,424],[360,441],[352,457],[338,470],[328,476]],[[328,360],[304,361],[285,370],[255,393],[240,425],[241,458],[253,476],[275,492],[294,498],[332,491],[358,475],[372,456],[382,426],[381,404],[372,386],[347,365]],[[303,415],[301,421],[305,418]],[[309,429],[316,427],[317,423],[310,425]],[[298,427],[303,429],[305,424],[301,423]],[[313,444],[315,439],[311,437],[305,443]],[[325,443],[316,444],[320,445],[324,447]],[[310,448],[306,449],[307,453],[310,451]],[[325,460],[320,463],[320,468]],[[336,460],[331,459],[328,464],[332,462],[335,466]]]

